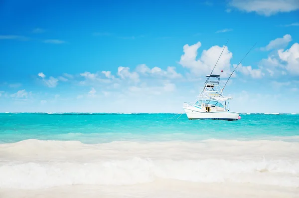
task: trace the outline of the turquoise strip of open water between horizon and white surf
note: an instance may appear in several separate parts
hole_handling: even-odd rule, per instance
[[[221,121],[188,120],[185,114],[167,113],[2,113],[0,142],[38,139],[105,143],[299,136],[299,114],[243,114],[241,117],[238,121]]]

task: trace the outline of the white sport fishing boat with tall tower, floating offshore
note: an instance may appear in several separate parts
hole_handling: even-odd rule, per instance
[[[185,102],[183,109],[189,120],[213,119],[213,120],[238,120],[240,114],[229,111],[228,100],[231,97],[223,96],[220,75],[208,75],[204,88],[193,104]]]

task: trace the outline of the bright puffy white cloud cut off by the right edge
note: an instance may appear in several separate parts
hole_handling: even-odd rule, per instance
[[[287,63],[286,69],[295,75],[299,75],[299,43],[294,43],[290,49],[278,50],[278,55],[281,60]]]

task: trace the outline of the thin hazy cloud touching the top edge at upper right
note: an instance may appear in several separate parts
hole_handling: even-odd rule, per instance
[[[299,0],[231,0],[229,5],[242,11],[270,16],[299,9]]]

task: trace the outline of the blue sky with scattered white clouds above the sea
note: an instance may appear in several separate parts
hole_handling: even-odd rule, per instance
[[[182,112],[229,39],[223,84],[257,42],[231,111],[299,113],[298,0],[4,0],[0,26],[0,112]]]

